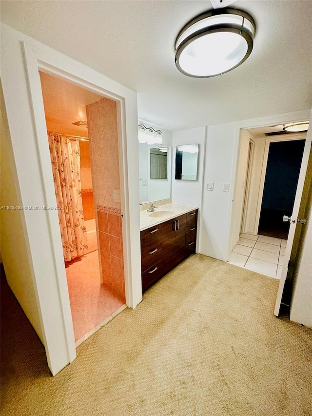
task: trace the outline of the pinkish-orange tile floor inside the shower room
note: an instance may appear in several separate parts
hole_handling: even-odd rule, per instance
[[[124,302],[100,284],[98,250],[66,262],[65,270],[75,341],[79,343],[122,310]]]

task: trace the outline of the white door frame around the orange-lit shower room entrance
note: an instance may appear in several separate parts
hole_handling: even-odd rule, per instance
[[[27,39],[23,40],[22,43],[27,69],[25,76],[29,85],[32,121],[37,142],[39,171],[47,206],[56,205],[56,197],[48,148],[39,70],[74,82],[83,88],[109,99],[114,99],[117,102],[125,295],[127,306],[135,308],[142,299],[141,265],[140,256],[138,255],[140,253],[140,240],[137,94],[91,68],[35,40]],[[51,284],[56,287],[55,293],[48,293],[48,288],[44,285],[44,282],[39,282],[36,276],[35,279],[45,333],[44,341],[48,365],[52,374],[55,375],[61,368],[76,358],[76,348],[57,211],[48,211],[47,221],[49,234],[46,235],[46,239],[52,248],[51,257],[54,264],[55,281],[51,282]],[[49,301],[46,301],[47,299]],[[52,323],[52,317],[49,319],[49,315],[51,316],[53,308],[60,309],[61,319],[55,319]],[[58,341],[60,328],[62,328],[62,332],[64,333],[65,345],[63,341]],[[59,358],[60,351],[62,352],[61,360]]]

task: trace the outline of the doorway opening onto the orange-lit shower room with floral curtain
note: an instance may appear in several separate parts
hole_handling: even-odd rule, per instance
[[[106,163],[118,171],[117,106],[39,74],[77,346],[125,308],[120,179]]]

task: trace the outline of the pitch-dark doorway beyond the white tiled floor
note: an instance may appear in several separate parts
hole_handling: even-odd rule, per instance
[[[258,234],[288,238],[305,140],[270,143]]]

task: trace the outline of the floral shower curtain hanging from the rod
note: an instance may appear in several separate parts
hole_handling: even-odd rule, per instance
[[[52,133],[48,133],[48,138],[64,261],[70,261],[82,256],[88,248],[82,209],[79,142]]]

